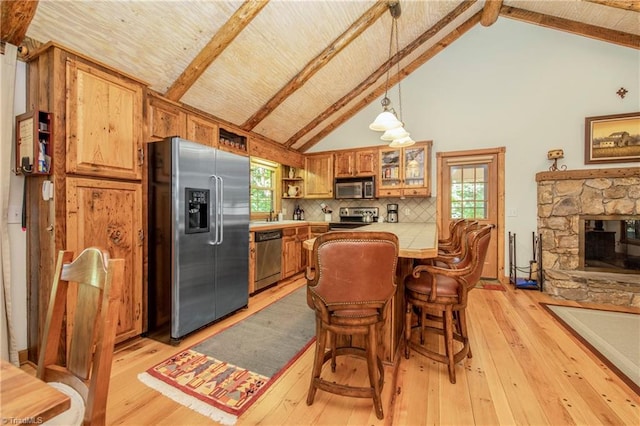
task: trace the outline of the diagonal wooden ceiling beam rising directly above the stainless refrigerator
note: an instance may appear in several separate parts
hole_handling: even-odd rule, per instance
[[[246,0],[209,40],[209,43],[191,61],[180,77],[173,82],[164,96],[172,101],[179,101],[209,65],[224,52],[267,3],[269,0]]]

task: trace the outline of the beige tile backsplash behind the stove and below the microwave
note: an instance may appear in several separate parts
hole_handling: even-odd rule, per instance
[[[285,219],[293,217],[293,210],[296,205],[304,210],[305,220],[324,221],[324,213],[320,204],[324,203],[331,210],[331,221],[340,221],[338,209],[340,207],[378,207],[380,216],[386,218],[387,204],[398,204],[398,221],[403,223],[412,222],[435,222],[436,221],[436,198],[381,198],[372,200],[306,200],[306,199],[283,199],[282,207],[286,211]]]

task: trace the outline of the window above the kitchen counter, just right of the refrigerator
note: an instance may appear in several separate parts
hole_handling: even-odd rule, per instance
[[[251,159],[251,218],[267,218],[276,212],[278,165],[261,159]]]

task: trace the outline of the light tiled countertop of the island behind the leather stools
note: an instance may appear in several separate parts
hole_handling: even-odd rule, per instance
[[[428,259],[438,254],[438,227],[433,222],[372,223],[349,231],[383,231],[395,234],[400,243],[400,257]],[[304,248],[313,250],[314,241],[315,238],[306,240]]]

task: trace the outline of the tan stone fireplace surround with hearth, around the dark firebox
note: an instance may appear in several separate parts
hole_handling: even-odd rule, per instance
[[[640,307],[640,275],[578,269],[580,215],[640,215],[640,167],[541,172],[538,233],[544,291],[563,299]]]

